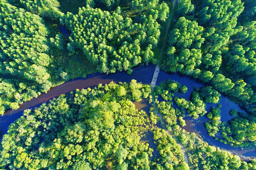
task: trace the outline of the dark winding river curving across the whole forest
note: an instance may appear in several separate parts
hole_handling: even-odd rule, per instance
[[[150,84],[154,71],[155,65],[149,64],[148,66],[137,66],[133,68],[133,73],[131,75],[128,75],[124,71],[110,75],[95,73],[88,75],[86,78],[75,78],[73,80],[65,82],[62,85],[58,85],[56,87],[51,88],[48,93],[44,93],[38,96],[37,98],[34,98],[28,102],[24,102],[24,104],[22,104],[18,110],[6,111],[5,114],[2,117],[0,117],[0,133],[1,135],[6,134],[9,125],[22,116],[23,110],[38,107],[42,103],[48,102],[49,100],[53,99],[54,97],[58,97],[61,94],[68,94],[71,91],[75,91],[76,89],[93,87],[98,84],[107,84],[111,81],[130,82],[132,79],[136,79],[137,82],[142,82],[143,84]],[[193,79],[192,77],[183,76],[178,73],[165,73],[163,71],[159,72],[156,85],[159,85],[161,82],[164,82],[169,78],[172,80],[176,80],[182,85],[186,85],[188,87],[187,93],[179,95],[179,97],[183,97],[187,100],[189,100],[190,94],[192,93],[194,86],[201,87],[205,85],[204,83],[196,79]],[[231,109],[237,109],[238,111],[243,112],[243,110],[241,110],[237,104],[229,101],[229,99],[227,99],[225,96],[221,95],[221,98],[222,99],[220,101],[220,104],[223,106],[222,108],[220,108],[222,121],[228,121],[232,118],[229,115],[229,110]],[[137,109],[143,109],[147,111],[150,105],[147,102],[142,102],[137,103],[136,106]],[[216,105],[214,104],[208,104],[206,110],[210,111],[210,108],[212,106],[216,107]],[[207,134],[206,128],[204,127],[204,122],[207,120],[206,116],[203,116],[198,120],[192,120],[189,116],[186,115],[184,119],[186,120],[187,125],[183,128],[189,132],[199,134],[209,144],[217,146],[223,150],[227,150],[233,154],[239,155],[244,160],[256,158],[255,149],[244,150],[241,148],[233,147],[228,144],[223,144],[215,140],[212,136],[209,136]]]

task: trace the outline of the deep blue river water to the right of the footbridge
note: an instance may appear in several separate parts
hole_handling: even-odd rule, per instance
[[[187,93],[178,95],[178,97],[183,97],[186,100],[190,99],[190,95],[194,91],[193,90],[194,86],[197,88],[206,86],[205,83],[200,82],[200,80],[194,79],[190,76],[185,76],[185,75],[178,74],[178,73],[166,73],[163,71],[159,72],[159,76],[158,76],[156,85],[160,85],[160,83],[165,82],[168,79],[175,80],[175,81],[181,83],[181,85],[186,85],[188,87]],[[158,98],[158,100],[162,101],[162,99],[160,99],[160,97]],[[173,105],[174,108],[178,107],[174,101],[173,101],[173,103],[174,103],[174,105]],[[245,112],[238,106],[238,104],[230,101],[222,93],[221,93],[221,100],[220,100],[219,104],[222,105],[222,107],[220,108],[221,121],[228,121],[228,120],[234,118],[233,116],[229,115],[229,111],[232,109],[238,110],[240,112]],[[206,111],[209,112],[213,106],[217,107],[217,104],[207,103]],[[200,135],[203,138],[203,140],[206,141],[207,143],[209,143],[210,145],[219,147],[223,150],[227,150],[233,154],[239,155],[241,158],[246,159],[246,160],[250,159],[250,158],[256,158],[256,150],[255,149],[244,150],[239,147],[233,147],[233,146],[230,146],[229,144],[224,144],[222,142],[219,142],[218,140],[215,140],[212,136],[209,136],[208,132],[204,126],[204,123],[206,121],[208,121],[208,118],[206,117],[206,115],[200,117],[199,119],[194,120],[186,113],[184,120],[186,122],[186,126],[182,127],[183,129],[185,129],[188,132],[194,132],[194,133]]]

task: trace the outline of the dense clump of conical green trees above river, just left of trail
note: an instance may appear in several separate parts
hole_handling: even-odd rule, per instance
[[[114,73],[154,59],[152,48],[160,32],[152,16],[133,23],[128,17],[87,6],[77,15],[68,13],[63,21],[72,32],[68,51],[82,50],[97,71]]]

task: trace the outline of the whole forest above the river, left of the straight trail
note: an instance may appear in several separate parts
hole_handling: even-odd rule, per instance
[[[57,0],[0,1],[0,114],[77,76],[131,74],[133,66],[157,62],[153,50],[166,3],[127,1],[123,11],[115,1],[86,3],[74,15],[62,12]],[[69,37],[58,30],[61,24]]]

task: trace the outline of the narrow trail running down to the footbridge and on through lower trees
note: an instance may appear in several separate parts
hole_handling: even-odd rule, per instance
[[[156,83],[156,80],[157,80],[157,77],[158,77],[158,74],[159,74],[159,71],[160,71],[160,67],[159,67],[159,64],[160,64],[160,61],[163,57],[163,53],[164,53],[164,49],[165,49],[165,43],[166,43],[166,39],[167,39],[167,36],[168,36],[168,33],[169,33],[169,28],[170,28],[170,25],[171,25],[171,21],[172,21],[172,17],[173,17],[173,14],[174,14],[174,8],[175,8],[175,4],[176,4],[176,0],[173,0],[173,8],[172,8],[172,12],[169,16],[169,21],[168,21],[168,25],[166,27],[166,31],[165,31],[165,40],[164,40],[164,43],[163,43],[163,46],[162,46],[162,50],[161,50],[161,53],[160,53],[160,57],[159,57],[159,61],[157,63],[157,65],[155,66],[155,72],[154,72],[154,75],[152,77],[152,81],[151,81],[151,92],[153,93],[154,92],[154,88],[155,88],[155,83]],[[157,106],[154,102],[153,106],[155,107],[155,110],[156,110],[156,114],[157,116],[160,118],[161,120],[161,124],[162,124],[162,127],[165,129],[165,131],[171,135],[175,140],[176,142],[180,145],[182,151],[183,151],[183,154],[184,154],[184,158],[185,158],[185,161],[186,163],[189,165],[189,159],[188,159],[188,155],[183,147],[183,145],[181,144],[181,142],[167,129],[166,125],[165,125],[165,120],[162,118],[161,114],[159,113],[159,110],[157,109]]]

